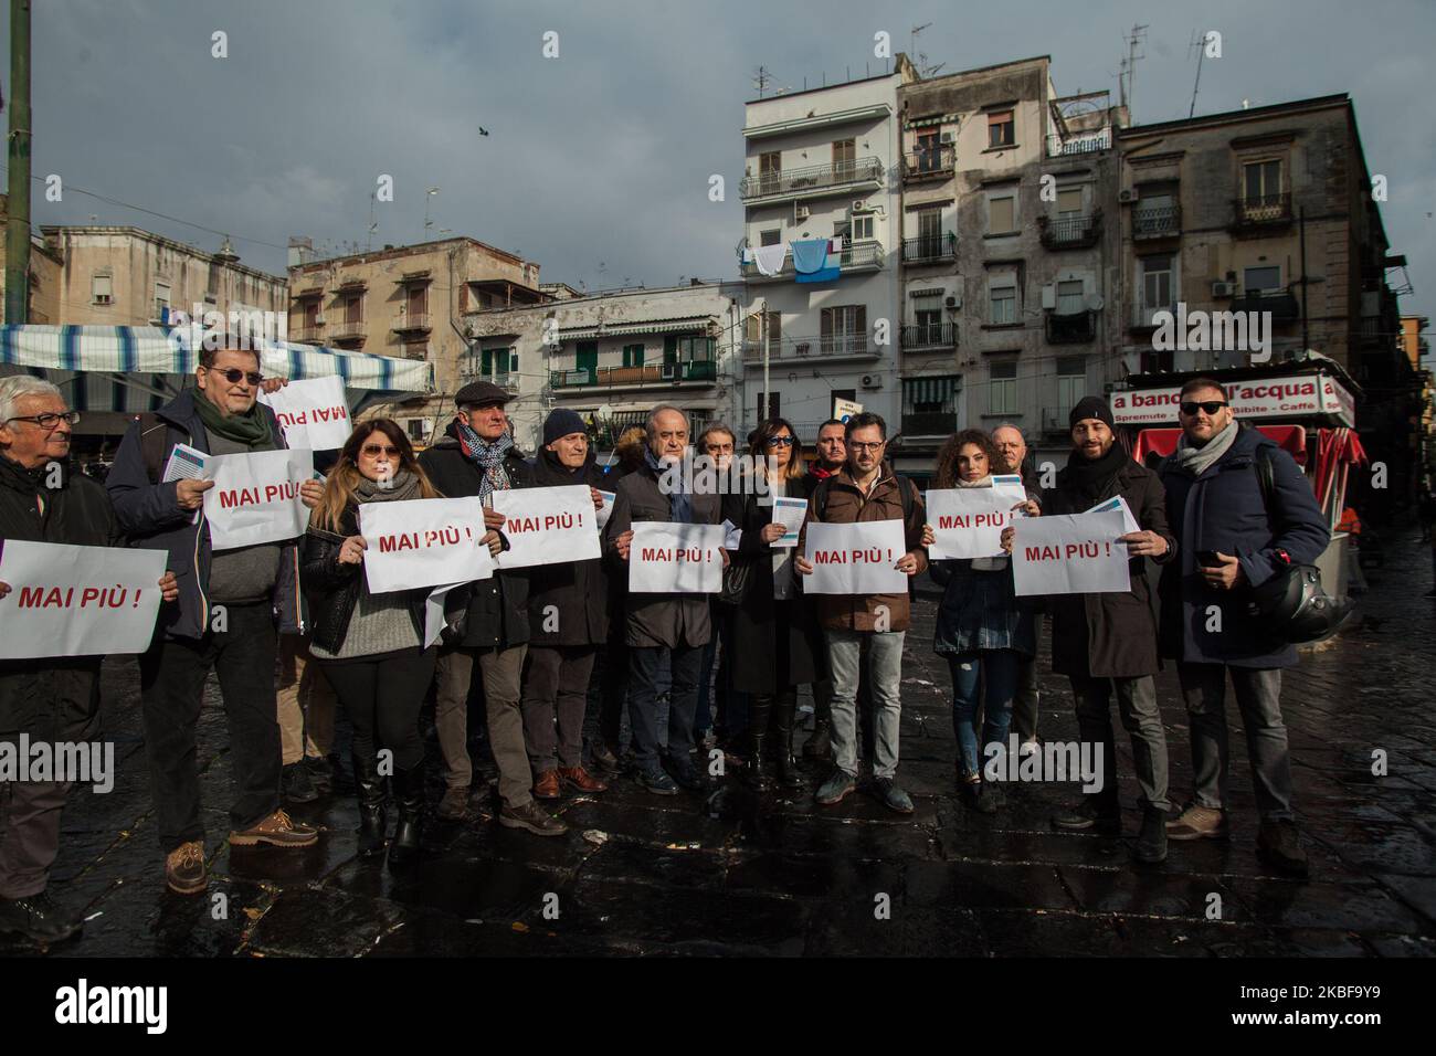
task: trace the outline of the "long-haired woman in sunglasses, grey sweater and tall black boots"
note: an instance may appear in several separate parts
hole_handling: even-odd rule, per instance
[[[399,823],[389,848],[391,868],[406,863],[419,849],[419,707],[434,680],[435,649],[424,648],[426,588],[369,593],[359,506],[438,497],[404,430],[388,418],[359,425],[310,516],[300,569],[314,622],[310,652],[353,726],[360,855],[383,851],[383,774],[393,776]],[[389,766],[381,767],[381,750],[391,753]]]

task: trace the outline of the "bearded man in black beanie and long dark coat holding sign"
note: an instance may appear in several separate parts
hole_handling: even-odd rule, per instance
[[[1122,830],[1111,697],[1132,734],[1132,757],[1142,789],[1142,833],[1133,849],[1142,862],[1166,858],[1167,750],[1157,711],[1157,626],[1149,601],[1146,559],[1159,565],[1176,553],[1167,530],[1166,493],[1152,470],[1132,460],[1113,432],[1111,411],[1100,397],[1084,397],[1068,418],[1073,451],[1057,484],[1043,494],[1041,514],[1087,513],[1122,496],[1139,532],[1122,536],[1132,556],[1126,593],[1064,593],[1048,598],[1053,671],[1071,678],[1083,741],[1101,746],[1101,789],[1053,818],[1058,829]]]

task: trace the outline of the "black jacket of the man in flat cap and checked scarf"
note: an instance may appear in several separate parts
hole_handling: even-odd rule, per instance
[[[419,455],[419,466],[447,499],[468,499],[478,494],[482,471],[464,457],[455,422],[449,422],[444,437]],[[533,467],[523,460],[517,448],[508,451],[504,471],[511,487],[533,487]],[[507,649],[527,641],[528,570],[495,572],[493,578],[472,583],[464,634],[457,644]]]

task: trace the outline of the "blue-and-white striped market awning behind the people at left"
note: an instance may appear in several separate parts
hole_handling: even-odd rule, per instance
[[[198,365],[191,330],[161,326],[0,326],[0,374],[27,372],[62,386],[76,411],[138,414],[162,407]],[[260,349],[266,375],[339,375],[345,388],[432,392],[434,365],[313,345]]]

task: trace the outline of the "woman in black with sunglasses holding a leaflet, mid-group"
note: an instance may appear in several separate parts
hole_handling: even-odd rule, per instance
[[[748,454],[757,473],[767,480],[768,494],[731,497],[738,511],[729,519],[742,529],[732,559],[732,568],[740,570],[734,579],[742,582],[732,615],[732,654],[737,658],[732,688],[752,694],[748,782],[760,792],[768,787],[763,767],[771,721],[778,736],[778,782],[796,789],[803,783],[793,759],[797,687],[824,674],[819,661],[823,639],[813,603],[798,590],[793,575],[797,529],[807,514],[807,470],[797,434],[783,418],[770,418],[754,430]]]

